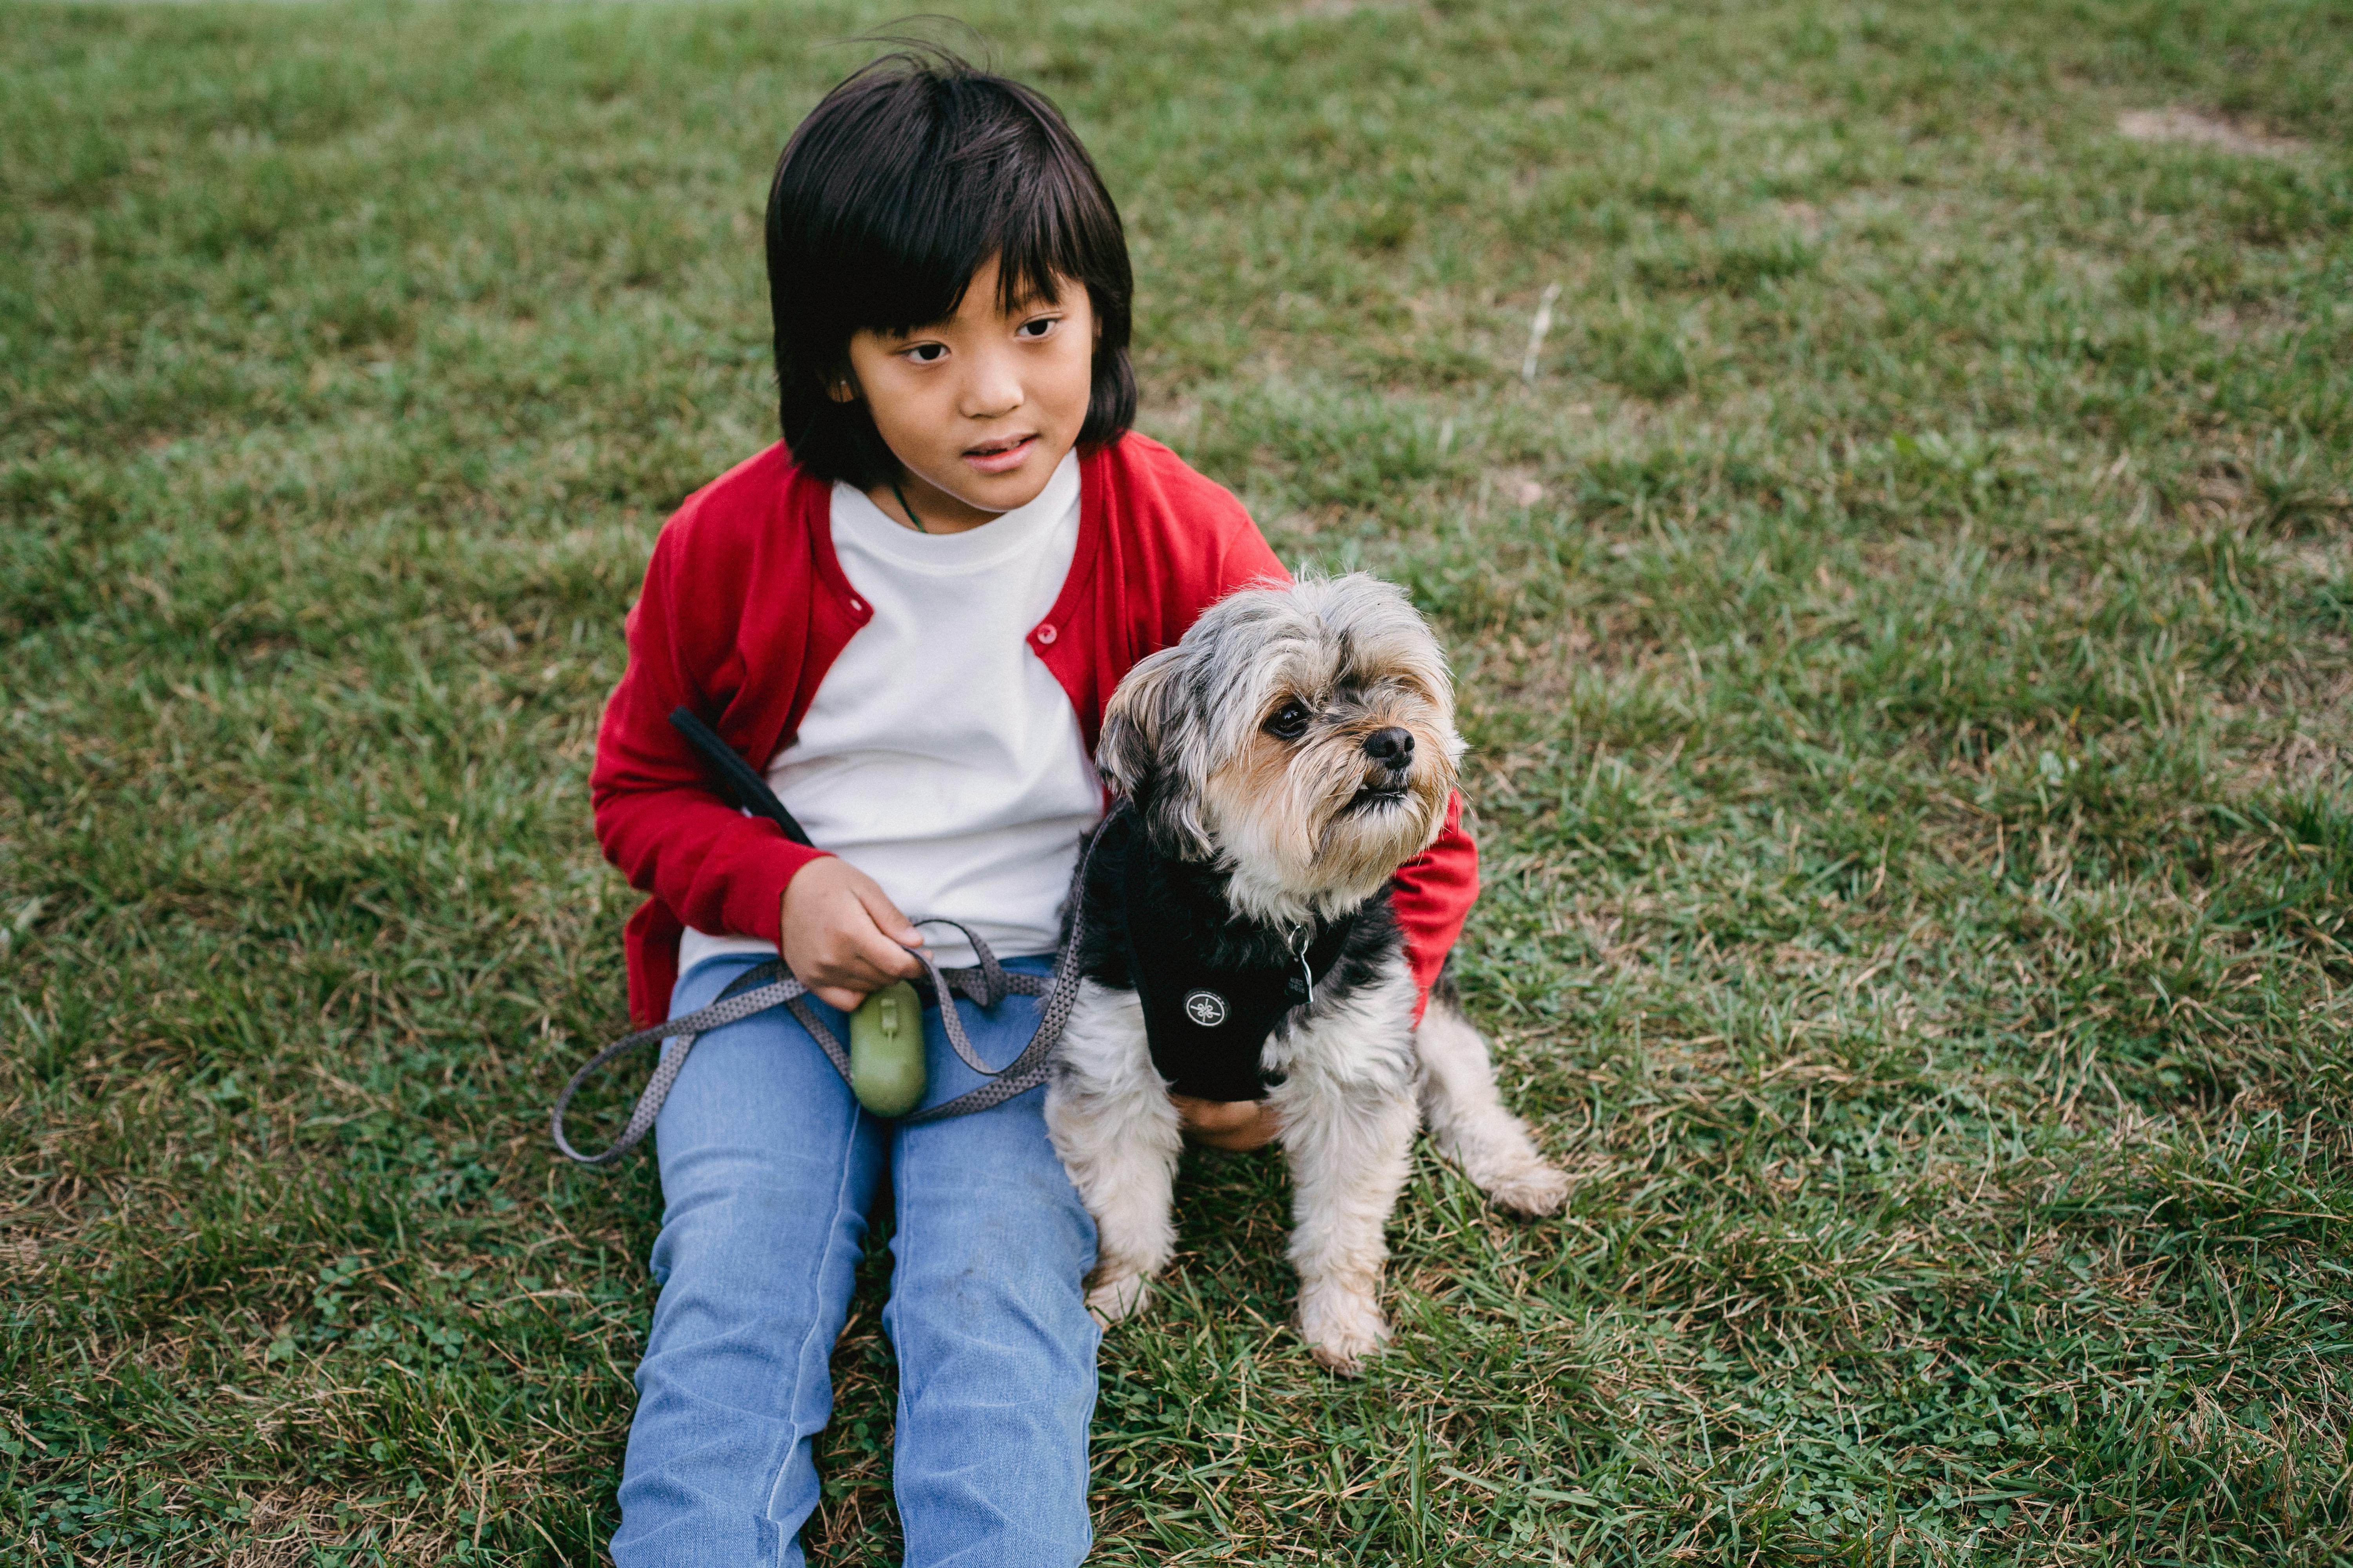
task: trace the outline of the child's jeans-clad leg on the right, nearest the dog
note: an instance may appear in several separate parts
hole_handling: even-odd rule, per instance
[[[1031,973],[1042,964],[1024,961]],[[1033,997],[958,1004],[979,1056],[1031,1037]],[[925,1016],[929,1103],[981,1079]],[[885,1312],[899,1352],[896,1490],[906,1568],[1059,1568],[1087,1554],[1094,1347],[1082,1281],[1094,1222],[1045,1135],[1045,1091],[904,1128]]]

